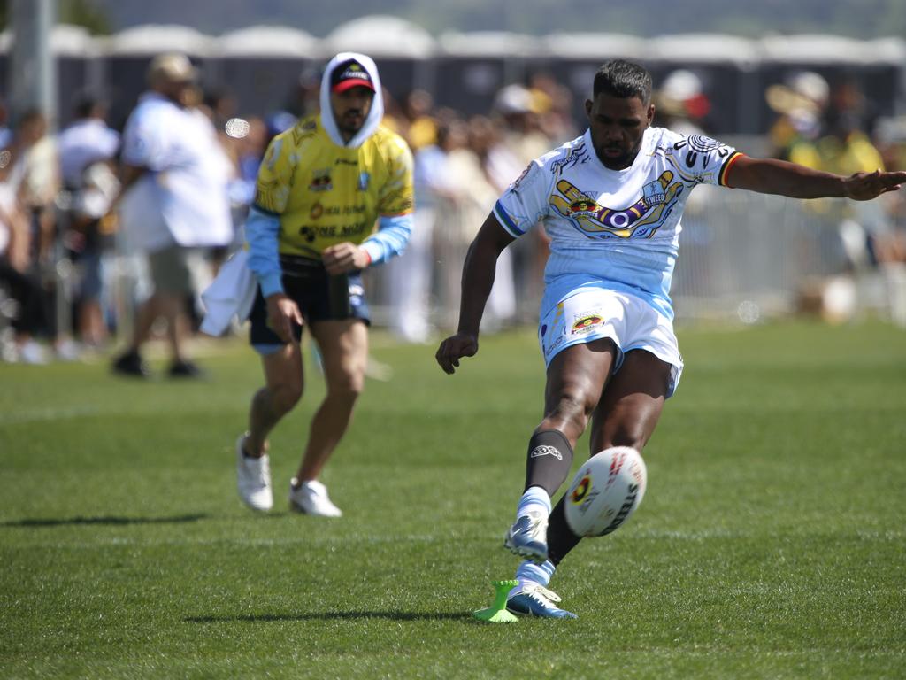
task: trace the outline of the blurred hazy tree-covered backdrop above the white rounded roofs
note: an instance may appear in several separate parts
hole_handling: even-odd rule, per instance
[[[365,15],[394,15],[444,31],[549,34],[600,31],[638,36],[674,33],[818,33],[870,39],[906,35],[906,0],[56,0],[61,23],[105,34],[136,24],[184,24],[208,34],[254,24],[288,25],[317,37]],[[0,24],[9,0],[0,0]]]

